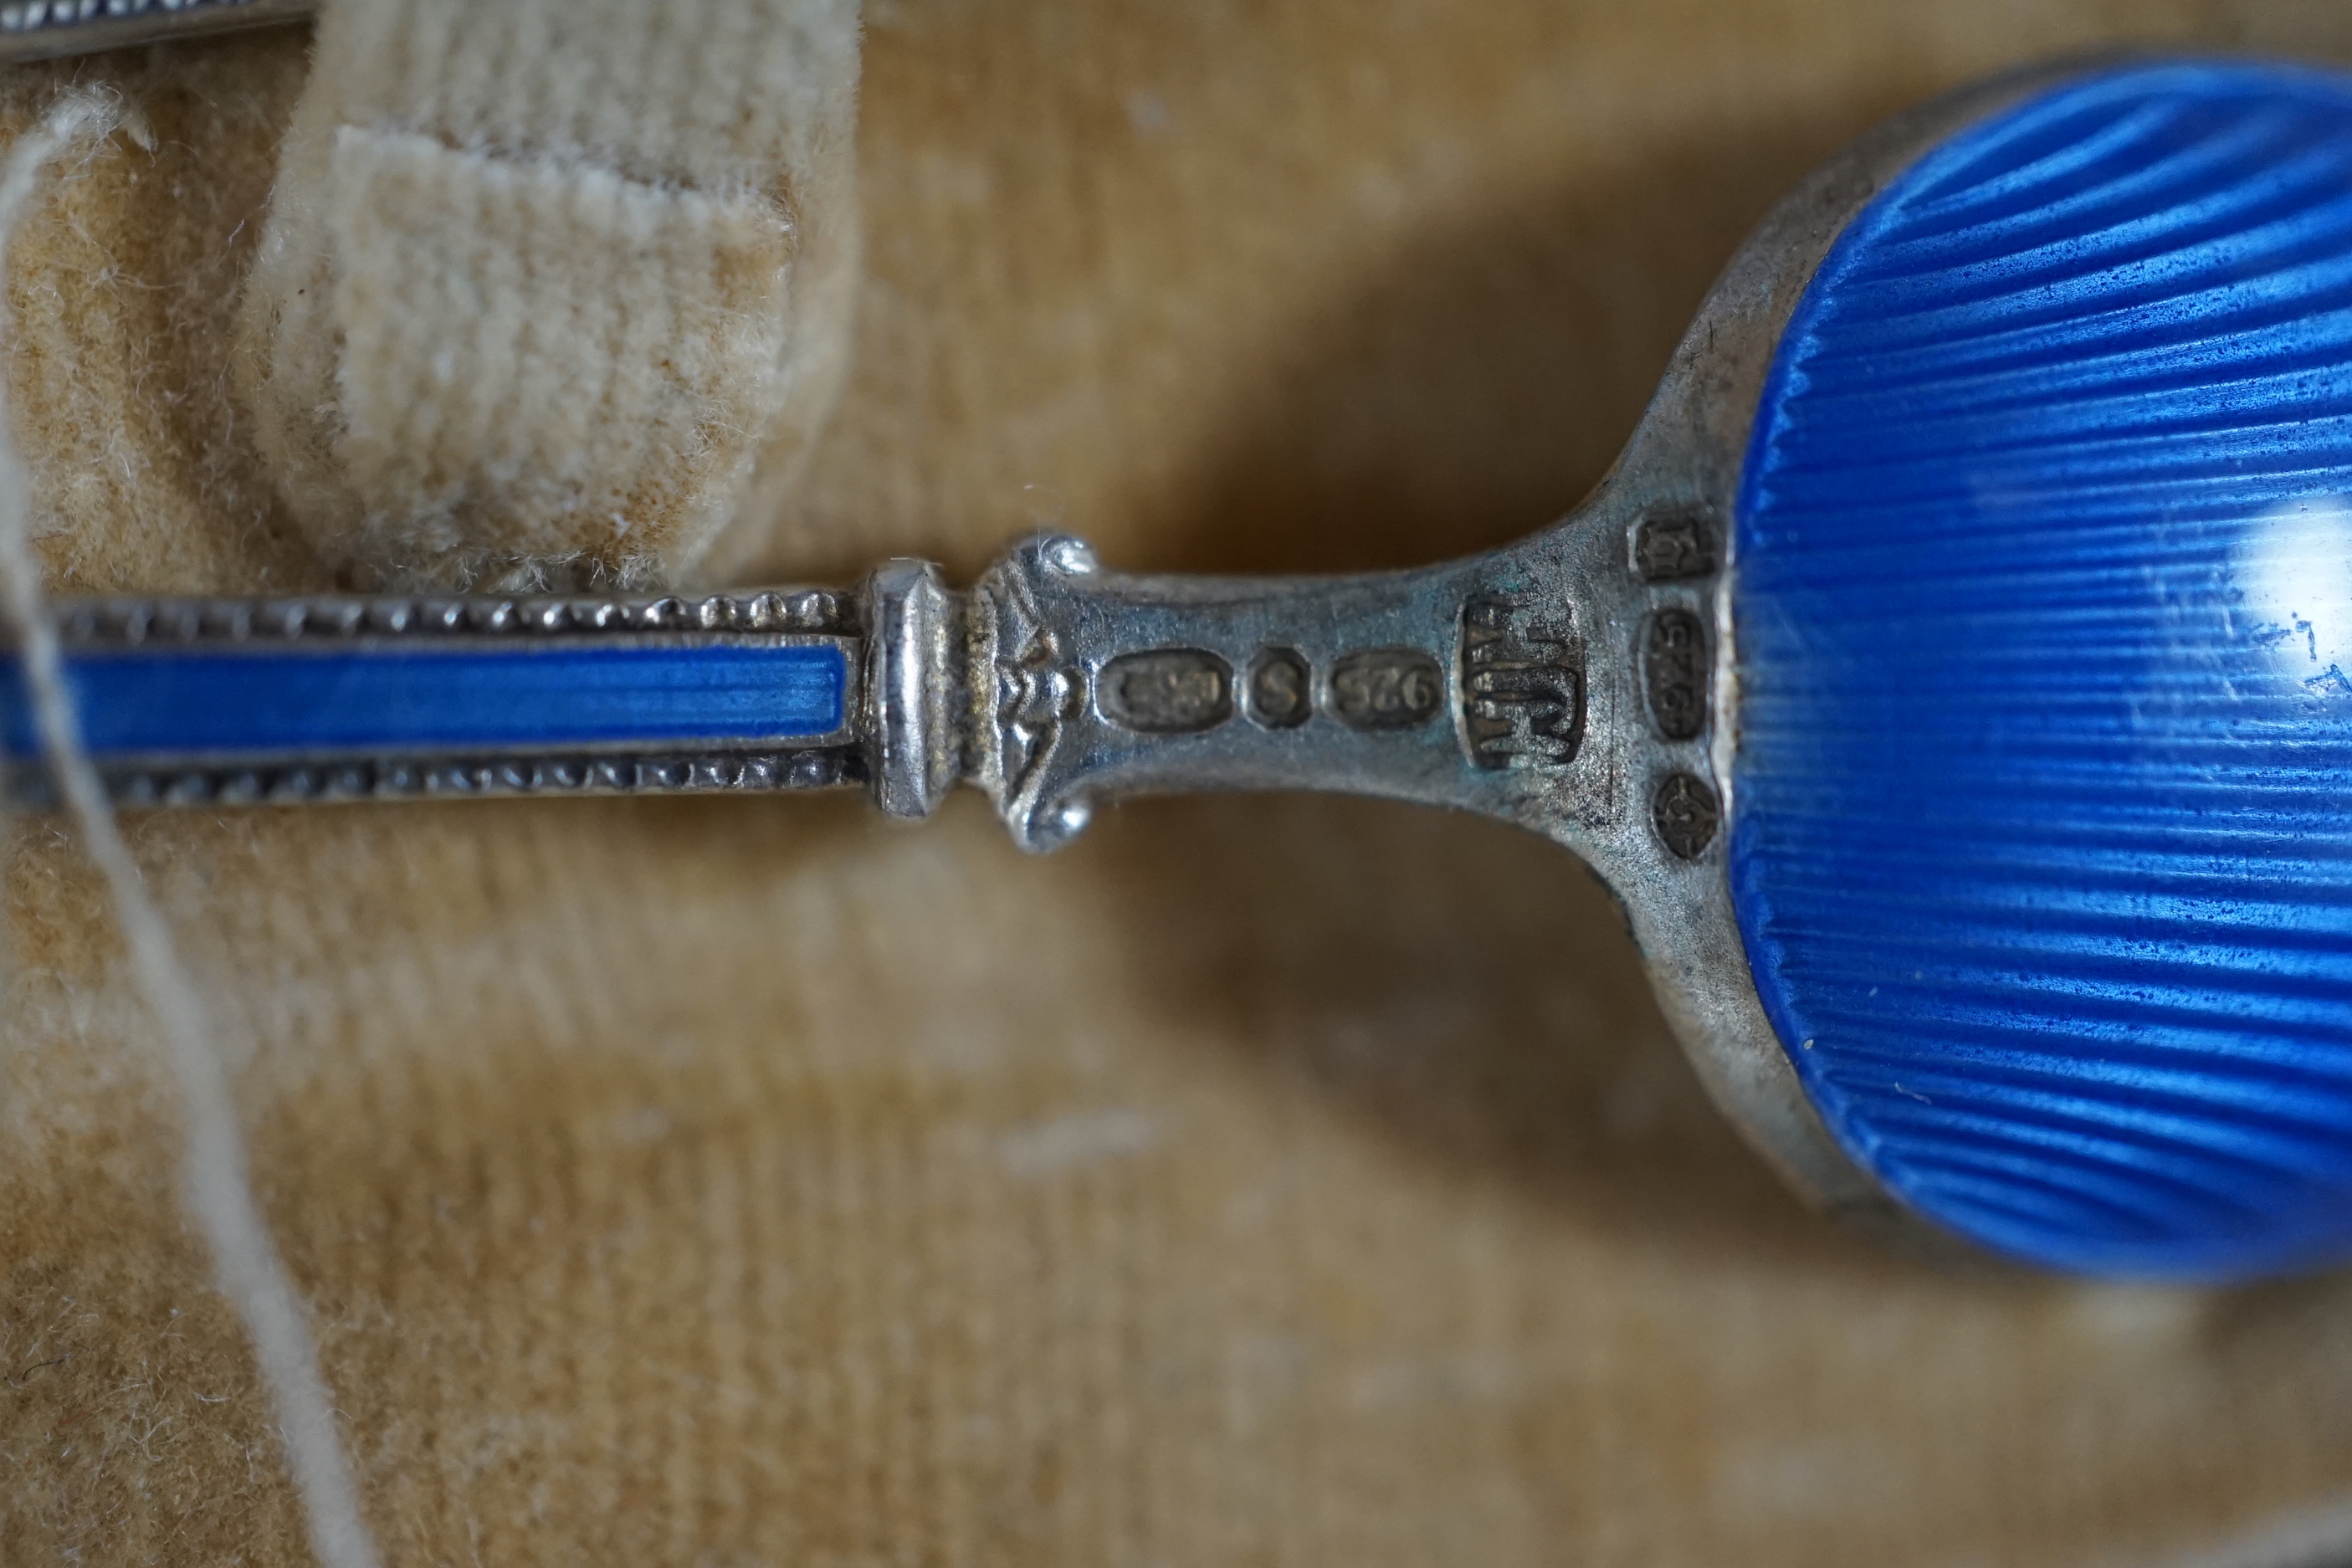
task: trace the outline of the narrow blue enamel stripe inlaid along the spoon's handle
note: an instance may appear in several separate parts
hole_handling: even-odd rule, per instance
[[[837,644],[334,651],[78,651],[66,682],[94,757],[546,752],[809,741],[849,686]],[[38,755],[16,663],[0,743]]]

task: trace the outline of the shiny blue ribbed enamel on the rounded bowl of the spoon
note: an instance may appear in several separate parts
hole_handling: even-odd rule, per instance
[[[2352,1255],[2352,78],[1945,143],[1780,343],[1731,879],[1844,1147],[2042,1265]]]

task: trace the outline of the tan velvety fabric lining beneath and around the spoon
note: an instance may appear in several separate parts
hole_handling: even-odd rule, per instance
[[[1872,118],[2333,0],[884,0],[868,287],[776,576],[1428,559],[1562,512]],[[301,38],[7,273],[59,588],[322,581],[228,395]],[[0,1561],[301,1561],[103,903],[9,827]],[[1606,900],[1475,820],[976,799],[172,816],[390,1563],[2152,1563],[2352,1493],[2352,1281],[1952,1276],[1799,1213]]]

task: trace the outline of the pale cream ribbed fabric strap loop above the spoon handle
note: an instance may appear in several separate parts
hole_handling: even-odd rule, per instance
[[[854,0],[336,0],[235,369],[365,583],[644,585],[790,487],[856,280]]]

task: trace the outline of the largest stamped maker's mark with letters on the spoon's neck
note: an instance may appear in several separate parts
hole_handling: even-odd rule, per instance
[[[1526,599],[1463,604],[1463,738],[1482,769],[1564,766],[1585,733],[1576,635]]]

